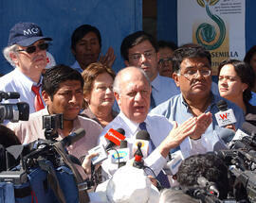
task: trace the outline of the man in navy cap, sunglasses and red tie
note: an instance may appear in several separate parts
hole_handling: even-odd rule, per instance
[[[20,93],[20,98],[6,103],[27,102],[30,113],[45,108],[41,81],[49,41],[52,39],[33,23],[18,23],[9,30],[8,46],[3,53],[15,69],[0,78],[0,91]]]

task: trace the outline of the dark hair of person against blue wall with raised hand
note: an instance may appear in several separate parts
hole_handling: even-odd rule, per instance
[[[96,26],[92,25],[81,25],[75,29],[71,37],[71,48],[76,50],[77,42],[81,41],[84,35],[88,34],[89,32],[94,32],[98,38],[100,47],[101,47],[101,33]]]

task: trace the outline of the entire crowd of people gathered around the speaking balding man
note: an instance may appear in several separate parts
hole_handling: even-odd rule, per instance
[[[129,202],[138,202],[137,198],[143,194],[145,198],[140,198],[144,199],[141,202],[155,202],[155,199],[161,203],[196,202],[170,188],[175,177],[182,188],[197,184],[196,178],[200,175],[217,182],[222,191],[220,197],[227,197],[227,166],[207,153],[213,151],[215,145],[227,144],[221,136],[225,127],[220,127],[215,118],[220,111],[217,105],[220,100],[234,112],[236,122],[227,126],[231,130],[242,129],[246,121],[256,126],[255,47],[249,50],[245,61],[227,59],[220,64],[217,90],[217,84],[211,79],[210,52],[199,44],[177,47],[173,42],[156,42],[144,31],[134,32],[120,44],[126,67],[115,73],[112,69],[116,59],[114,50],[110,47],[105,56],[101,55],[101,33],[97,27],[81,25],[74,30],[71,52],[76,61],[71,66],[56,61],[57,65],[46,68],[46,51],[52,40],[33,23],[18,23],[9,30],[9,42],[3,54],[14,70],[0,77],[0,91],[20,93],[20,98],[3,103],[27,102],[30,114],[28,121],[6,120],[2,124],[7,134],[1,133],[0,148],[45,139],[43,116],[62,113],[63,128],[58,129],[56,140],[64,139],[78,128],[85,129],[85,136],[69,145],[67,151],[82,161],[88,177],[90,161],[98,156],[89,150],[99,144],[109,144],[105,134],[110,129],[122,128],[125,132],[131,161],[127,161],[124,172],[119,172],[119,164],[113,161],[115,150],[109,151],[108,158],[101,161],[99,173],[102,180],[107,179],[98,189],[99,194],[105,193],[103,199],[121,202],[121,198],[126,198],[128,202],[129,196],[120,194],[121,191],[124,192],[127,185],[131,188],[143,185],[148,190],[130,191]],[[142,174],[137,177],[137,171],[129,169],[133,165],[136,135],[142,130],[150,135],[148,152],[143,157],[143,164],[150,170],[142,173],[143,178]],[[167,176],[162,169],[177,151],[186,160],[177,175]],[[204,161],[209,161],[206,167],[202,167]],[[201,168],[201,173],[195,169],[194,172],[193,168]],[[218,176],[212,178],[209,171]],[[122,175],[127,177],[116,180]],[[131,183],[140,179],[139,186]]]

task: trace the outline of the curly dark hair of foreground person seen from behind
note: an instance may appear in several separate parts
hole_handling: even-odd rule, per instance
[[[214,182],[221,198],[226,198],[229,191],[228,167],[213,152],[192,155],[182,161],[177,172],[177,181],[181,188],[198,185],[197,178],[204,177]]]

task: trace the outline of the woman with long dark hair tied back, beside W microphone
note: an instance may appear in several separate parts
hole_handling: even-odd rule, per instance
[[[218,69],[220,95],[245,112],[246,121],[256,126],[256,107],[249,104],[255,75],[251,67],[237,59],[221,62]]]

